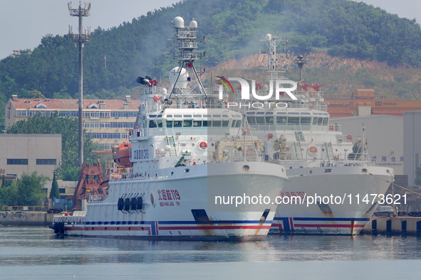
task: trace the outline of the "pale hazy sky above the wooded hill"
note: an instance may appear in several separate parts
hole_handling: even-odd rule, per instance
[[[108,29],[123,21],[145,15],[163,6],[170,6],[176,0],[91,0],[90,16],[83,18],[83,26],[100,26]],[[364,0],[367,4],[380,6],[389,13],[403,18],[417,18],[421,11],[420,0]],[[0,59],[13,50],[35,48],[48,33],[68,33],[68,25],[77,32],[78,19],[69,16],[68,0],[0,0]],[[79,1],[73,1],[73,8]]]

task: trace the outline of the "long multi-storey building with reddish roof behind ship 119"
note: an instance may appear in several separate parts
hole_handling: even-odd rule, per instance
[[[19,99],[13,95],[6,105],[5,126],[22,119],[54,112],[62,117],[78,117],[78,99]],[[128,131],[135,126],[140,100],[131,99],[83,99],[83,127],[94,141],[104,149],[128,141]]]

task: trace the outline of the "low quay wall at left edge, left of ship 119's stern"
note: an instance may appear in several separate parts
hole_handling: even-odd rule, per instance
[[[0,225],[47,226],[53,222],[54,214],[47,212],[0,212]]]

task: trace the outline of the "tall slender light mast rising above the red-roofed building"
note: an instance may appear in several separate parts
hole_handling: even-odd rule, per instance
[[[92,4],[85,3],[82,8],[82,1],[79,1],[79,8],[72,9],[72,2],[68,4],[68,11],[71,16],[78,16],[79,18],[79,33],[73,34],[71,26],[68,26],[68,34],[71,36],[73,42],[79,43],[79,165],[83,163],[83,48],[85,42],[90,41],[90,28],[88,31],[83,32],[82,17],[89,16],[90,7]]]

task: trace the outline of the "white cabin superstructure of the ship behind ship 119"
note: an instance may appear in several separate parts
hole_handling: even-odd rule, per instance
[[[251,134],[264,142],[265,161],[301,166],[363,165],[363,139],[343,135],[341,126],[329,124],[327,112],[313,109],[262,109],[246,112]]]

